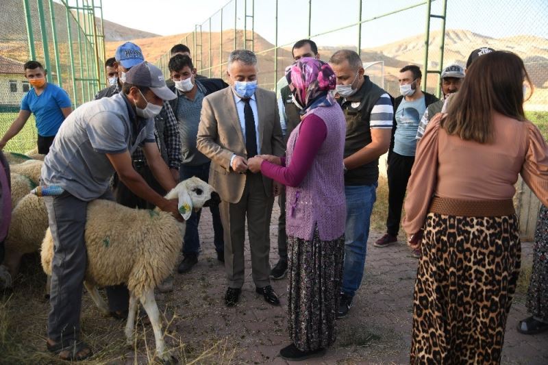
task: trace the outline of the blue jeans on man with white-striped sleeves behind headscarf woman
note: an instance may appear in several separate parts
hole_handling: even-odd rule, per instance
[[[377,200],[377,183],[345,186],[347,223],[345,227],[345,268],[340,292],[353,297],[364,276],[369,219]]]

